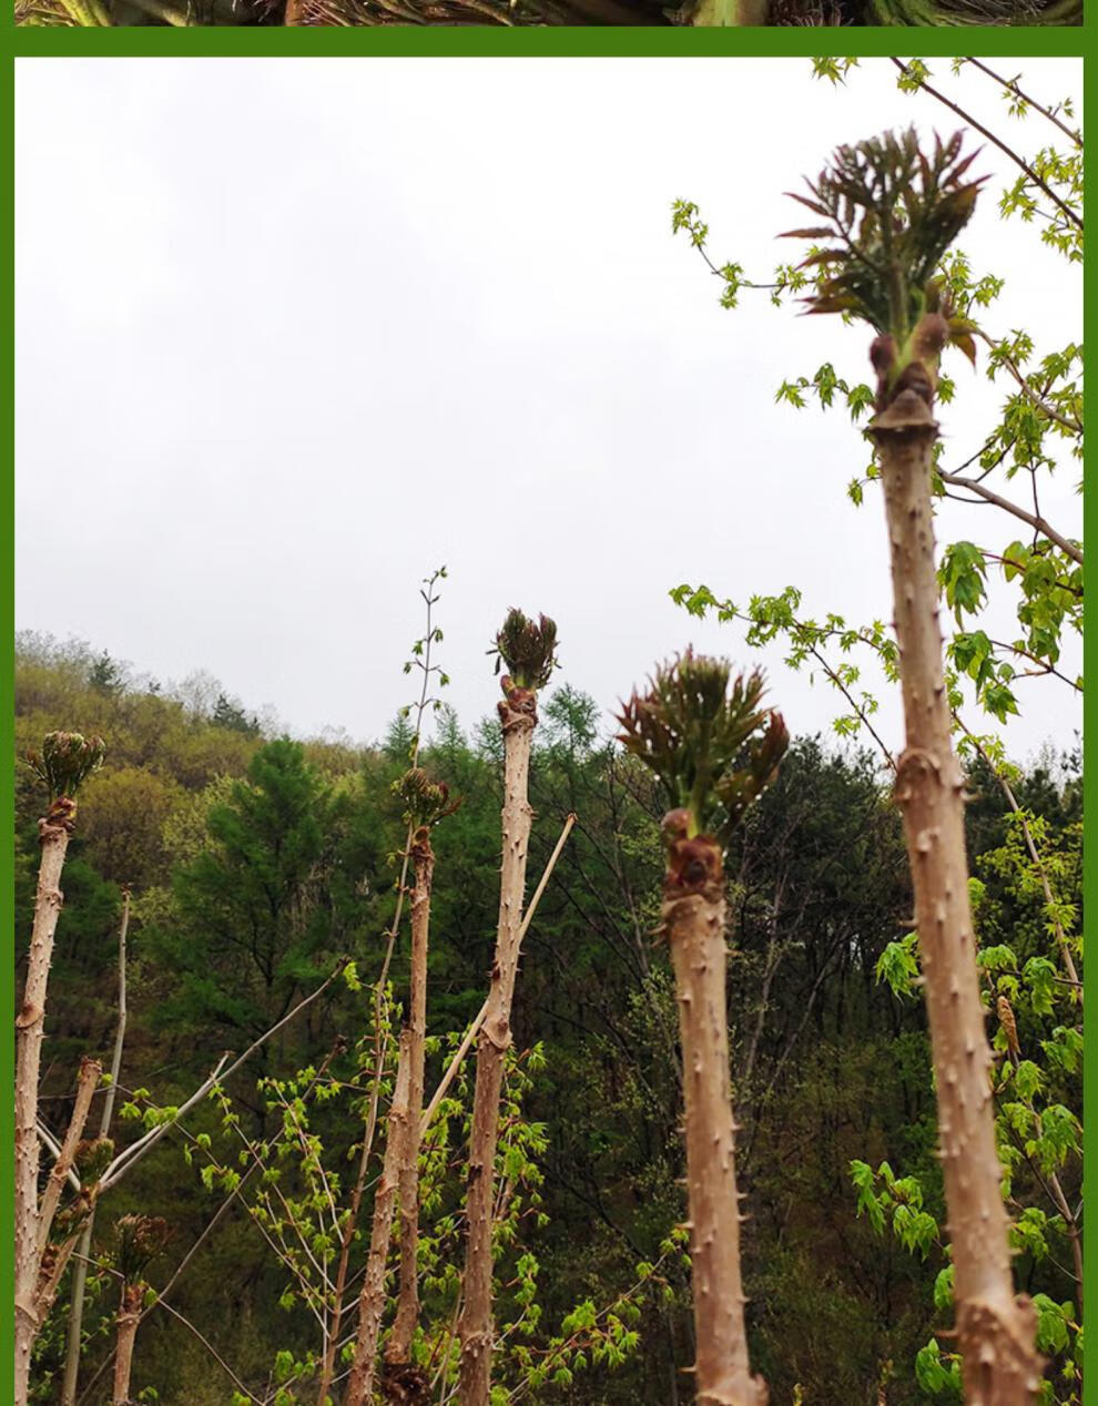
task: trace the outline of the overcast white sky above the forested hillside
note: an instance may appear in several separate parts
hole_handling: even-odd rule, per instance
[[[1080,93],[1078,60],[1002,63],[1038,97]],[[974,75],[936,72],[1004,125]],[[846,89],[807,59],[18,60],[17,624],[371,738],[409,697],[418,585],[446,562],[467,724],[517,605],[557,619],[558,681],[607,709],[693,641],[765,662],[792,730],[827,728],[822,679],[668,589],[796,583],[806,614],[890,619],[879,495],[845,494],[859,433],[775,405],[824,360],[867,378],[869,337],[765,294],[721,311],[669,207],[697,201],[714,257],[765,277],[799,247],[773,238],[803,224],[782,193],[912,120],[956,125],[883,59]],[[962,247],[1008,280],[988,325],[1059,349],[1080,271],[997,218],[1004,157],[978,169],[1000,179]],[[956,464],[1005,384],[949,370]],[[1077,478],[1042,499],[1070,534]],[[991,513],[949,508],[939,538],[1004,546]],[[1019,692],[1011,751],[1070,744],[1070,690]],[[900,744],[896,700],[880,727]]]

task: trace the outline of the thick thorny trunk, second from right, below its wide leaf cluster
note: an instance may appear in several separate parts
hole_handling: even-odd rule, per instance
[[[724,856],[710,835],[686,838],[686,811],[672,811],[664,883],[682,1033],[686,1192],[690,1225],[699,1406],[766,1406],[751,1375],[739,1272],[732,1101],[725,998]]]

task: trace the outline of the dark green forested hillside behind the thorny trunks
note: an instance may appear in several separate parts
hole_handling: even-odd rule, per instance
[[[676,1012],[666,943],[654,935],[664,804],[651,775],[605,740],[600,707],[579,683],[554,679],[545,690],[531,758],[527,893],[567,817],[576,821],[515,993],[492,1399],[665,1406],[693,1399],[683,1368],[695,1343],[676,1229],[685,1219]],[[143,1234],[136,1282],[148,1288],[148,1312],[132,1399],[315,1400],[326,1317],[315,1312],[316,1289],[337,1271],[333,1226],[344,1223],[337,1209],[353,1191],[370,1119],[371,986],[405,846],[406,801],[394,783],[408,770],[412,721],[396,718],[374,745],[267,735],[214,689],[172,696],[105,654],[41,637],[20,643],[15,689],[21,754],[73,725],[107,747],[80,790],[51,974],[41,1112],[58,1139],[82,1056],[110,1067],[127,890],[117,1149],[170,1121],[222,1052],[242,1053],[329,983],[101,1195],[79,1399],[114,1399],[120,1272],[135,1278],[122,1264]],[[418,758],[461,800],[432,831],[427,1098],[488,988],[500,755],[496,721],[443,709]],[[747,1323],[752,1364],[775,1402],[957,1399],[955,1371],[929,1346],[950,1322],[948,1258],[925,1017],[907,984],[910,880],[889,780],[867,755],[794,738],[728,849]],[[990,1012],[1000,1004],[988,1033],[1000,1070],[1021,1067],[1019,1056],[1032,1070],[1025,1107],[1016,1092],[1001,1095],[1018,1282],[1038,1296],[1042,1347],[1070,1374],[1070,1313],[1059,1306],[1070,1309],[1077,1286],[1056,1191],[1074,1205],[1078,1021],[1049,960],[1047,905],[1000,783],[976,770],[969,785],[984,995]],[[1049,756],[1014,790],[1039,827],[1063,917],[1078,901],[1077,758]],[[45,807],[30,766],[18,769],[17,801],[21,990]],[[402,931],[384,1014],[394,1031],[408,1002],[408,950]],[[381,1122],[394,1057],[391,1045]],[[422,1159],[429,1371],[456,1308],[471,1064],[472,1056]],[[366,1263],[381,1146],[378,1133],[349,1285]],[[391,1267],[396,1254],[394,1243]],[[60,1399],[70,1279],[72,1267],[35,1348],[34,1400]],[[387,1313],[382,1333],[388,1322]],[[353,1337],[351,1320],[340,1331],[337,1381]],[[1050,1372],[1050,1391],[1052,1382]],[[1049,1399],[1077,1399],[1071,1391],[1057,1376]]]

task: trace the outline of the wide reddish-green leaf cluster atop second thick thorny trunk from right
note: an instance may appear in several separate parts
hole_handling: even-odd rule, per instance
[[[619,714],[619,740],[690,814],[690,832],[725,838],[773,780],[789,744],[782,714],[761,706],[762,673],[692,650],[655,671]]]

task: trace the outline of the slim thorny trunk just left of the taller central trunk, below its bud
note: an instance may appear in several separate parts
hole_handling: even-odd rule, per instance
[[[427,1038],[427,934],[430,928],[430,886],[434,876],[434,852],[430,830],[422,825],[412,841],[415,891],[412,894],[412,977],[409,991],[408,1128],[401,1152],[401,1289],[396,1317],[385,1347],[385,1360],[406,1365],[412,1354],[412,1334],[419,1317],[419,1147],[423,1119],[423,1053]]]

